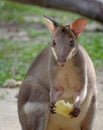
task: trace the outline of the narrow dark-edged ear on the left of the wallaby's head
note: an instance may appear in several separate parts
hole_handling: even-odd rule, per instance
[[[50,32],[53,33],[56,30],[58,23],[47,16],[44,16],[44,20],[45,20],[45,23],[48,26]]]

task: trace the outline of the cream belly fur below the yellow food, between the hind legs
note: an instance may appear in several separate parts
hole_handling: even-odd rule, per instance
[[[81,130],[82,121],[86,116],[91,101],[91,93],[88,93],[81,105],[81,112],[78,117],[70,119],[58,114],[49,114],[47,130]]]

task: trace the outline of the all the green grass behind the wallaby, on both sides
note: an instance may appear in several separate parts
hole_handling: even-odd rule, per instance
[[[0,37],[0,84],[12,78],[22,80],[36,55],[50,41],[42,15],[53,17],[60,24],[68,24],[80,15],[66,11],[49,10],[36,6],[0,2],[0,23],[16,22],[19,31],[26,32],[29,40]],[[88,20],[91,22],[91,20]],[[94,32],[80,35],[79,42],[86,48],[95,66],[103,67],[103,34]]]

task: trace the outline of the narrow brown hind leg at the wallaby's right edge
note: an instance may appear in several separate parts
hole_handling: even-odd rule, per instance
[[[87,115],[83,121],[81,130],[92,130],[96,112],[96,96],[93,96]]]

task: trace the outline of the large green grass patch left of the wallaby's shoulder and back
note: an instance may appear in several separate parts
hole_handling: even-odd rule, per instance
[[[0,84],[13,77],[12,69],[16,69],[16,80],[22,80],[27,68],[37,54],[46,46],[34,42],[5,40],[0,42]]]

